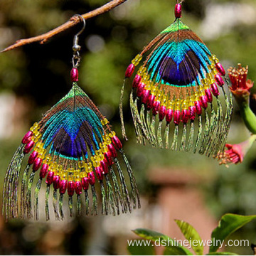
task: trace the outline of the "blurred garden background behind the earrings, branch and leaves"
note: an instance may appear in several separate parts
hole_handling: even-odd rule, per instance
[[[74,14],[105,4],[106,0],[1,0],[0,49],[20,38],[45,33]],[[132,58],[154,36],[174,21],[174,0],[129,0],[107,14],[87,21],[80,36],[82,62],[79,85],[110,119],[121,137],[119,95],[124,72]],[[256,80],[255,0],[186,0],[183,22],[201,36],[225,68],[249,65]],[[70,89],[73,36],[80,27],[48,43],[24,46],[0,55],[0,192],[4,175],[21,137]],[[185,220],[201,238],[224,213],[256,214],[256,145],[237,166],[219,166],[199,154],[186,154],[136,144],[127,87],[124,115],[129,156],[142,198],[142,209],[118,217],[11,220],[0,215],[0,254],[4,255],[120,255],[134,228],[151,228],[182,239],[174,219]],[[254,88],[255,91],[255,88]],[[256,112],[255,101],[252,109]],[[228,137],[231,144],[249,137],[238,107]],[[232,236],[256,242],[256,222]],[[226,247],[252,254],[250,247]],[[159,253],[160,251],[158,251]]]

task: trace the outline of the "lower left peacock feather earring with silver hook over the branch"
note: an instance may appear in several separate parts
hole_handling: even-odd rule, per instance
[[[85,20],[80,18],[83,31]],[[78,36],[82,31],[74,38],[70,92],[48,110],[40,122],[33,124],[11,159],[4,180],[3,214],[6,220],[33,215],[37,220],[43,190],[46,220],[50,218],[50,208],[53,208],[56,220],[64,218],[66,194],[70,215],[73,215],[75,203],[78,215],[82,212],[96,215],[98,194],[105,215],[116,215],[120,211],[127,213],[132,207],[140,207],[136,181],[122,143],[100,110],[78,87]],[[127,169],[129,186],[117,159],[118,151]],[[22,173],[23,159],[28,154]],[[45,189],[42,189],[43,180],[46,181]],[[132,191],[132,201],[129,190]]]

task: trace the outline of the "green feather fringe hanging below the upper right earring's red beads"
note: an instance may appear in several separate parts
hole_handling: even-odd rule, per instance
[[[223,152],[233,113],[233,97],[229,90],[229,95],[224,87],[222,90],[225,98],[224,114],[220,96],[216,96],[210,103],[210,110],[205,109],[195,120],[184,124],[160,120],[158,114],[154,115],[151,110],[147,110],[146,105],[137,97],[136,89],[132,90],[130,107],[137,143],[145,145],[149,142],[154,147],[175,151],[198,151],[208,157]]]

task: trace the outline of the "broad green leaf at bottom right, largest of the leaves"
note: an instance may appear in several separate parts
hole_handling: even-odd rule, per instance
[[[243,216],[236,214],[225,214],[221,217],[218,227],[213,230],[211,234],[211,240],[213,241],[210,246],[210,252],[216,252],[219,248],[217,240],[223,242],[229,235],[234,233],[239,228],[242,228],[245,224],[254,220],[256,215]]]

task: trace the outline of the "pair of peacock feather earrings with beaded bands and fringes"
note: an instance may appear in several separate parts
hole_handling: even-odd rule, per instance
[[[129,101],[137,142],[215,155],[224,150],[233,112],[232,97],[224,88],[225,70],[203,41],[182,23],[178,1],[175,17],[174,23],[132,60],[125,73],[124,84],[145,56],[132,82]],[[85,20],[80,18],[85,27]],[[80,33],[74,38],[73,87],[31,127],[9,164],[4,181],[6,219],[33,215],[38,219],[39,196],[43,196],[43,191],[47,220],[49,208],[53,208],[56,220],[64,218],[65,195],[70,215],[74,204],[78,215],[97,214],[99,194],[102,214],[127,213],[132,206],[140,207],[136,181],[122,143],[100,110],[78,87]],[[225,108],[220,102],[220,90]],[[126,138],[123,92],[124,85],[120,115]],[[118,151],[127,169],[129,186],[117,159]],[[22,162],[28,154],[22,172]]]

